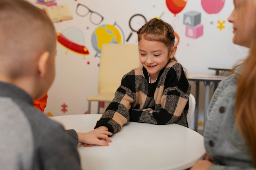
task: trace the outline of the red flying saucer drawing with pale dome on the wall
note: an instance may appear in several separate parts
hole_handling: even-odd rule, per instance
[[[85,47],[85,38],[83,32],[76,28],[70,27],[62,33],[57,34],[57,41],[67,50],[73,51],[80,55],[89,55],[88,49]]]

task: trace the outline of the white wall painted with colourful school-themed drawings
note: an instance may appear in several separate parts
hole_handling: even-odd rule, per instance
[[[137,44],[135,31],[151,18],[159,17],[173,26],[176,58],[188,73],[214,74],[208,67],[229,68],[247,54],[247,49],[232,44],[232,24],[227,21],[232,0],[39,1],[43,0],[29,0],[45,10],[58,35],[56,79],[48,92],[47,115],[87,113],[86,98],[97,93],[101,44]],[[195,94],[195,84],[191,86]],[[203,105],[201,84],[199,121],[203,120]],[[93,102],[92,113],[96,111]]]

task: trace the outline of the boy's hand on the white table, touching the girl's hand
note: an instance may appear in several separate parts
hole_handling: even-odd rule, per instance
[[[83,146],[108,146],[109,142],[112,142],[109,139],[108,135],[112,136],[113,134],[111,132],[108,132],[108,128],[106,128],[105,126],[101,126],[86,133],[77,133],[77,135],[78,141]]]

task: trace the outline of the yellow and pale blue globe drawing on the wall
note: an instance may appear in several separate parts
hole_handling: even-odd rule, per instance
[[[98,26],[92,33],[92,47],[97,52],[95,57],[99,57],[98,54],[101,54],[102,44],[121,44],[124,43],[124,33],[120,27],[115,23],[103,24]]]

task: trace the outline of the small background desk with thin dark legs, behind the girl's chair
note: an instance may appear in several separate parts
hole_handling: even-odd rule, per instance
[[[188,76],[188,80],[195,81],[195,122],[194,128],[197,131],[198,128],[198,104],[199,104],[199,83],[204,82],[205,85],[205,97],[204,97],[204,125],[207,121],[207,110],[210,103],[210,90],[211,82],[218,83],[222,79],[225,79],[226,76],[222,75],[209,75],[209,74],[197,74],[191,73]]]

